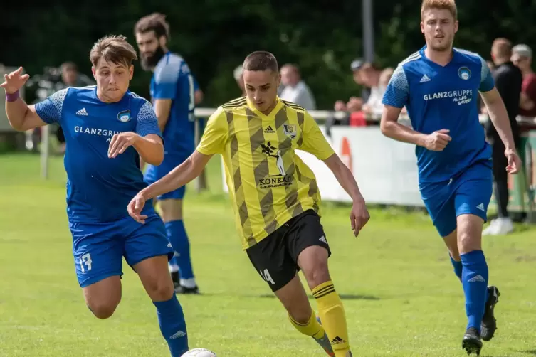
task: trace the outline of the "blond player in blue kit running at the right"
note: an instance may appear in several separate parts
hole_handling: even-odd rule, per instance
[[[387,87],[381,129],[416,144],[419,189],[433,224],[448,247],[466,298],[468,325],[462,346],[480,353],[496,329],[496,287],[488,287],[481,236],[492,192],[491,149],[478,120],[478,92],[503,140],[508,170],[520,159],[503,101],[485,60],[453,48],[458,30],[453,0],[424,0],[421,31],[426,46],[401,62]],[[409,129],[397,123],[406,107]]]

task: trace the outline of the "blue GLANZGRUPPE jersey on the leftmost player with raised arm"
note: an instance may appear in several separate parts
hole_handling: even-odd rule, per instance
[[[60,90],[38,103],[36,112],[46,123],[60,124],[65,134],[70,222],[112,222],[127,216],[132,197],[147,187],[140,156],[130,146],[110,159],[108,147],[113,135],[122,132],[160,135],[152,105],[133,92],[120,102],[101,102],[93,85]],[[147,203],[144,211],[152,210]]]

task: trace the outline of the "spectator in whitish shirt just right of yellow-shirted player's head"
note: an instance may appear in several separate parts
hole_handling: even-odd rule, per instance
[[[315,110],[315,97],[308,85],[302,80],[300,70],[297,65],[283,65],[281,67],[281,84],[283,92],[280,99],[293,102],[306,110]]]

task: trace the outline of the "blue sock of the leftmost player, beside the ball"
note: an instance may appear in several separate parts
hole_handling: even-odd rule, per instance
[[[152,302],[157,307],[158,323],[162,336],[166,339],[172,357],[180,357],[188,351],[186,321],[177,295],[167,302]]]

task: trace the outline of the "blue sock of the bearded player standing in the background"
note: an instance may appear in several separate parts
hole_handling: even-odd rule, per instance
[[[169,243],[172,243],[173,250],[177,252],[173,257],[172,263],[179,265],[181,279],[193,278],[194,270],[191,268],[190,243],[184,229],[184,223],[182,220],[172,220],[166,223],[166,230]]]

